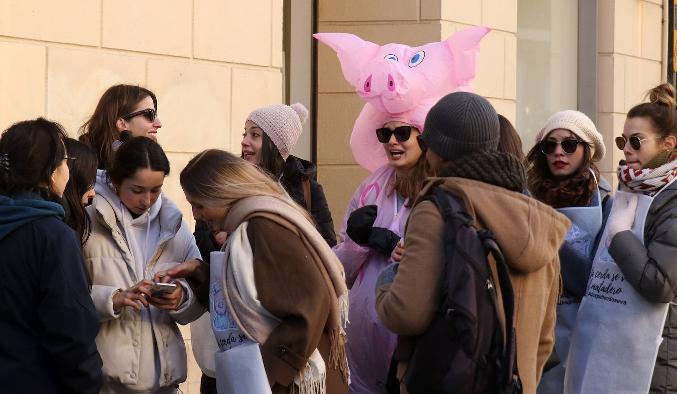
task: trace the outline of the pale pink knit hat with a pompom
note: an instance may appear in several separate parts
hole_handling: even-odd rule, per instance
[[[247,121],[259,125],[278,148],[282,159],[287,160],[301,136],[301,125],[307,118],[308,110],[301,103],[290,106],[274,104],[253,110],[247,116]]]

